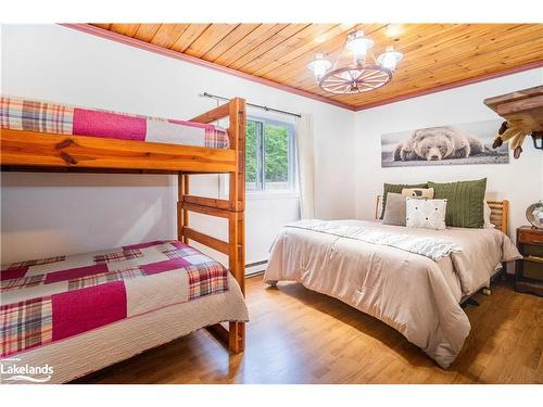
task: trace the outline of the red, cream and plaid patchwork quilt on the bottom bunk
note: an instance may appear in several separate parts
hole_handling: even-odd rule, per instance
[[[228,291],[223,265],[175,240],[13,263],[0,278],[0,357]]]

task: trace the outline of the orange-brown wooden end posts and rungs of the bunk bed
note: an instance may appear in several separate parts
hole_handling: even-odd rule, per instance
[[[210,112],[191,119],[197,123],[212,123],[223,117],[229,118],[227,129],[230,149],[236,152],[236,169],[228,173],[228,200],[190,195],[190,173],[178,176],[178,239],[184,243],[194,240],[228,256],[228,268],[238,281],[241,292],[245,292],[245,101],[235,98]],[[189,227],[189,212],[218,216],[228,219],[228,242],[209,237]],[[228,330],[220,323],[207,329],[224,342],[232,353],[245,347],[245,323],[229,322]]]

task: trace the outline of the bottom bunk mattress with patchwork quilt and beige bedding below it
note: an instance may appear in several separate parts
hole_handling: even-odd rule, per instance
[[[50,382],[199,328],[249,319],[228,270],[178,241],[15,263],[0,277],[2,365],[48,365]],[[1,376],[2,382],[21,379]]]

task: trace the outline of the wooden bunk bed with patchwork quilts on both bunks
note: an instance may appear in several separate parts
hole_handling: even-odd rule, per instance
[[[68,109],[70,119],[64,120],[70,122],[67,124],[63,123],[63,117],[67,117],[65,109]],[[245,344],[244,323],[248,320],[243,300],[245,259],[245,101],[243,99],[231,99],[228,103],[193,117],[190,122],[88,111],[88,115],[84,119],[79,117],[76,125],[78,113],[72,107],[46,102],[28,102],[8,97],[2,97],[0,113],[2,119],[0,129],[2,171],[171,174],[176,175],[178,179],[177,240],[175,241],[143,242],[76,256],[75,259],[70,256],[58,256],[49,259],[21,262],[8,265],[5,268],[2,266],[2,293],[5,295],[2,295],[3,301],[0,308],[0,311],[4,314],[2,316],[4,323],[0,327],[0,333],[2,333],[0,358],[3,363],[18,360],[20,365],[48,364],[54,368],[54,374],[46,378],[48,382],[66,382],[200,328],[210,330],[227,346],[230,353],[243,352]],[[212,125],[223,118],[228,119],[226,130]],[[40,119],[43,119],[43,123],[40,123]],[[125,119],[129,122],[130,131],[128,132],[125,131],[126,128],[121,128],[115,124]],[[146,120],[148,120],[148,133],[151,125],[157,126],[159,130],[155,131],[154,137],[146,137]],[[152,120],[151,125],[149,120]],[[135,127],[130,125],[134,123],[143,124],[139,130],[134,130]],[[165,138],[165,131],[162,130],[164,130],[164,126],[171,125],[188,127],[188,132],[186,131],[185,136],[181,137],[181,143],[173,143],[175,137]],[[143,131],[140,131],[141,128]],[[175,131],[177,130],[174,129]],[[119,135],[121,137],[117,137]],[[140,137],[141,135],[143,136]],[[185,142],[192,145],[185,145]],[[228,199],[192,195],[190,193],[190,177],[198,174],[229,174]],[[227,219],[228,241],[216,239],[192,228],[189,222],[190,213]],[[218,262],[191,247],[189,245],[191,241],[226,254],[228,256],[228,270]],[[116,275],[112,277],[111,271],[114,268],[112,265],[138,265],[137,262],[141,260],[143,254],[150,256],[149,262],[155,263],[147,265],[147,268],[137,266],[136,271],[117,267],[113,270]],[[165,257],[166,255],[169,257]],[[164,260],[164,258],[168,259]],[[191,260],[191,258],[197,260]],[[87,266],[84,263],[87,260],[92,264],[90,268],[93,267],[90,272],[88,272],[89,267],[80,267],[81,265]],[[115,263],[118,260],[122,262]],[[64,268],[72,267],[71,271],[59,271],[59,268],[63,268],[62,264],[67,265]],[[78,267],[73,268],[74,264]],[[188,292],[184,294],[182,301],[172,300],[174,297],[179,300],[180,294],[168,289],[167,285],[171,282],[168,283],[166,277],[162,276],[166,272],[162,275],[159,272],[163,271],[164,264],[166,264],[167,270],[184,271],[182,274],[177,272],[176,279],[189,281],[187,283]],[[201,266],[204,268],[203,271],[199,268]],[[38,271],[28,272],[33,267]],[[97,275],[104,269],[110,271],[108,276]],[[76,270],[75,275],[74,270]],[[187,275],[189,277],[186,277]],[[128,285],[128,281],[131,287],[137,285],[143,290],[142,294],[135,294],[125,287],[123,290],[126,292],[123,295],[126,296],[126,303],[134,301],[138,295],[146,301],[149,296],[156,296],[155,294],[160,290],[172,292],[163,295],[166,298],[160,300],[160,306],[151,307],[148,304],[139,309],[140,311],[132,313],[134,318],[125,315],[124,319],[113,318],[109,321],[111,323],[105,323],[108,317],[103,317],[105,322],[96,325],[93,321],[90,325],[94,323],[98,328],[89,330],[80,329],[80,327],[74,330],[68,326],[65,329],[67,333],[63,333],[61,336],[64,338],[60,338],[59,341],[51,341],[51,327],[49,327],[49,331],[40,333],[38,340],[28,336],[22,341],[21,338],[29,330],[41,329],[43,331],[46,322],[40,321],[40,326],[36,328],[35,321],[28,320],[26,323],[17,326],[16,319],[21,318],[23,314],[41,313],[42,316],[45,313],[51,311],[51,304],[40,304],[38,310],[36,310],[36,298],[5,304],[5,301],[10,302],[10,297],[13,298],[11,295],[13,290],[26,288],[31,291],[43,287],[47,288],[46,291],[51,292],[54,291],[52,287],[55,284],[48,285],[48,283],[60,283],[60,281],[68,280],[74,276],[77,277],[77,281],[70,280],[71,288],[66,290],[75,291],[62,293],[71,294],[65,298],[77,298],[77,295],[92,288],[88,287],[89,284],[96,285],[111,279],[115,280],[113,281],[115,283],[123,282],[125,285]],[[156,278],[153,280],[146,276]],[[135,277],[146,278],[135,279]],[[160,279],[166,280],[160,283]],[[139,285],[135,284],[134,281],[139,281]],[[153,287],[146,288],[146,284],[151,284],[151,281],[154,281]],[[108,284],[102,285],[106,287]],[[229,292],[230,296],[225,296],[225,292]],[[207,295],[215,293],[217,295]],[[106,301],[113,302],[112,298],[118,296],[118,293],[113,287],[112,290],[102,292],[100,295]],[[169,303],[166,301],[168,295]],[[200,296],[201,298],[199,298]],[[195,306],[194,313],[198,315],[194,318],[190,315],[190,308],[187,308],[187,304],[191,303],[190,300],[198,300],[192,303],[200,304]],[[60,302],[58,301],[58,303]],[[227,313],[225,308],[230,305],[235,309]],[[26,309],[23,309],[23,306]],[[111,304],[108,306],[111,307]],[[49,309],[46,309],[47,307]],[[52,307],[54,308],[54,304]],[[138,305],[136,305],[137,307]],[[65,313],[64,316],[53,314],[51,317],[49,315],[50,319],[53,319],[53,336],[54,323],[61,323],[64,319],[62,323],[66,325],[66,319],[78,317],[70,315],[67,311],[70,308],[70,304],[64,308],[59,308],[60,313],[58,314]],[[178,310],[181,308],[185,314],[179,314]],[[189,314],[187,314],[187,309],[189,309]],[[103,313],[105,316],[111,314],[114,314],[111,309]],[[179,315],[184,315],[187,321],[180,322]],[[58,322],[59,318],[61,322]],[[194,321],[201,320],[213,320],[214,322],[205,326],[194,325],[198,323]],[[228,328],[220,322],[227,322]],[[49,336],[49,341],[42,341],[43,336]],[[127,341],[131,341],[129,346],[126,346]],[[26,344],[22,342],[26,342]],[[93,349],[92,346],[96,346],[97,343],[100,343],[101,347]],[[3,380],[5,381],[5,378]]]

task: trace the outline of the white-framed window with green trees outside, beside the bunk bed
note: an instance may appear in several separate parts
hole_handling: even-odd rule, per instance
[[[248,191],[292,191],[294,127],[290,123],[249,117],[245,138]]]

